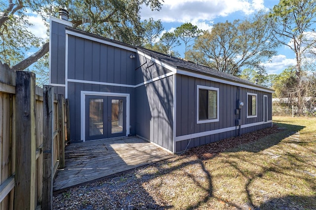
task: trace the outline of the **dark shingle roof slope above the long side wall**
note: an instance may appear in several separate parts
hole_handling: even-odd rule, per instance
[[[165,54],[162,54],[162,53],[158,53],[158,52],[155,52],[155,51],[152,51],[152,50],[148,50],[148,49],[145,49],[145,48],[137,47],[137,49],[140,50],[140,51],[143,51],[147,55],[149,55],[149,56],[151,56],[153,58],[156,58],[156,59],[160,60],[161,62],[166,63],[166,64],[168,64],[168,65],[170,65],[170,66],[172,66],[174,68],[177,68],[177,69],[182,69],[182,70],[202,73],[202,74],[205,74],[205,75],[210,75],[210,76],[221,78],[221,79],[224,79],[224,80],[230,80],[230,81],[243,83],[243,84],[251,85],[251,86],[254,86],[254,87],[260,87],[260,88],[263,88],[263,89],[267,89],[267,90],[273,91],[270,88],[267,88],[267,87],[264,87],[264,86],[261,86],[261,85],[256,85],[253,82],[250,82],[250,81],[245,80],[245,79],[241,79],[241,78],[239,78],[237,76],[234,76],[232,74],[228,74],[228,73],[225,73],[225,72],[222,72],[222,71],[219,71],[219,70],[214,70],[214,69],[211,69],[209,67],[198,65],[198,64],[195,64],[195,63],[192,63],[192,62],[189,62],[189,61],[185,61],[183,59],[179,59],[179,58],[175,58],[175,57],[172,57],[172,56],[168,56],[168,55],[165,55]]]

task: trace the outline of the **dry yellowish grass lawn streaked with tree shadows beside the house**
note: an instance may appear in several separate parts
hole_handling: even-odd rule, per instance
[[[316,118],[273,120],[280,132],[206,160],[178,156],[143,187],[169,209],[316,209]]]

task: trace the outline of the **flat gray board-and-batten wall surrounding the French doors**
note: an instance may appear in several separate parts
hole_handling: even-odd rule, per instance
[[[68,29],[67,29],[68,31]],[[78,33],[78,32],[77,32]],[[67,97],[70,102],[71,140],[82,140],[81,91],[129,94],[130,110],[135,109],[133,72],[136,62],[129,58],[131,51],[68,35]],[[106,85],[107,83],[117,84]],[[123,84],[125,86],[120,86]],[[129,115],[129,134],[135,135],[135,112]],[[73,117],[72,117],[73,116]],[[83,133],[84,135],[85,133]]]

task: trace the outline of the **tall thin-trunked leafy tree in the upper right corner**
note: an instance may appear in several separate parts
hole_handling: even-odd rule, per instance
[[[303,57],[316,48],[316,0],[280,0],[269,16],[276,23],[275,38],[295,53],[296,75],[300,78]]]

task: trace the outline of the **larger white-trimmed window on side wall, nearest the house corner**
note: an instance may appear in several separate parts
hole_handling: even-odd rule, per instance
[[[219,89],[197,85],[197,124],[219,121]]]

